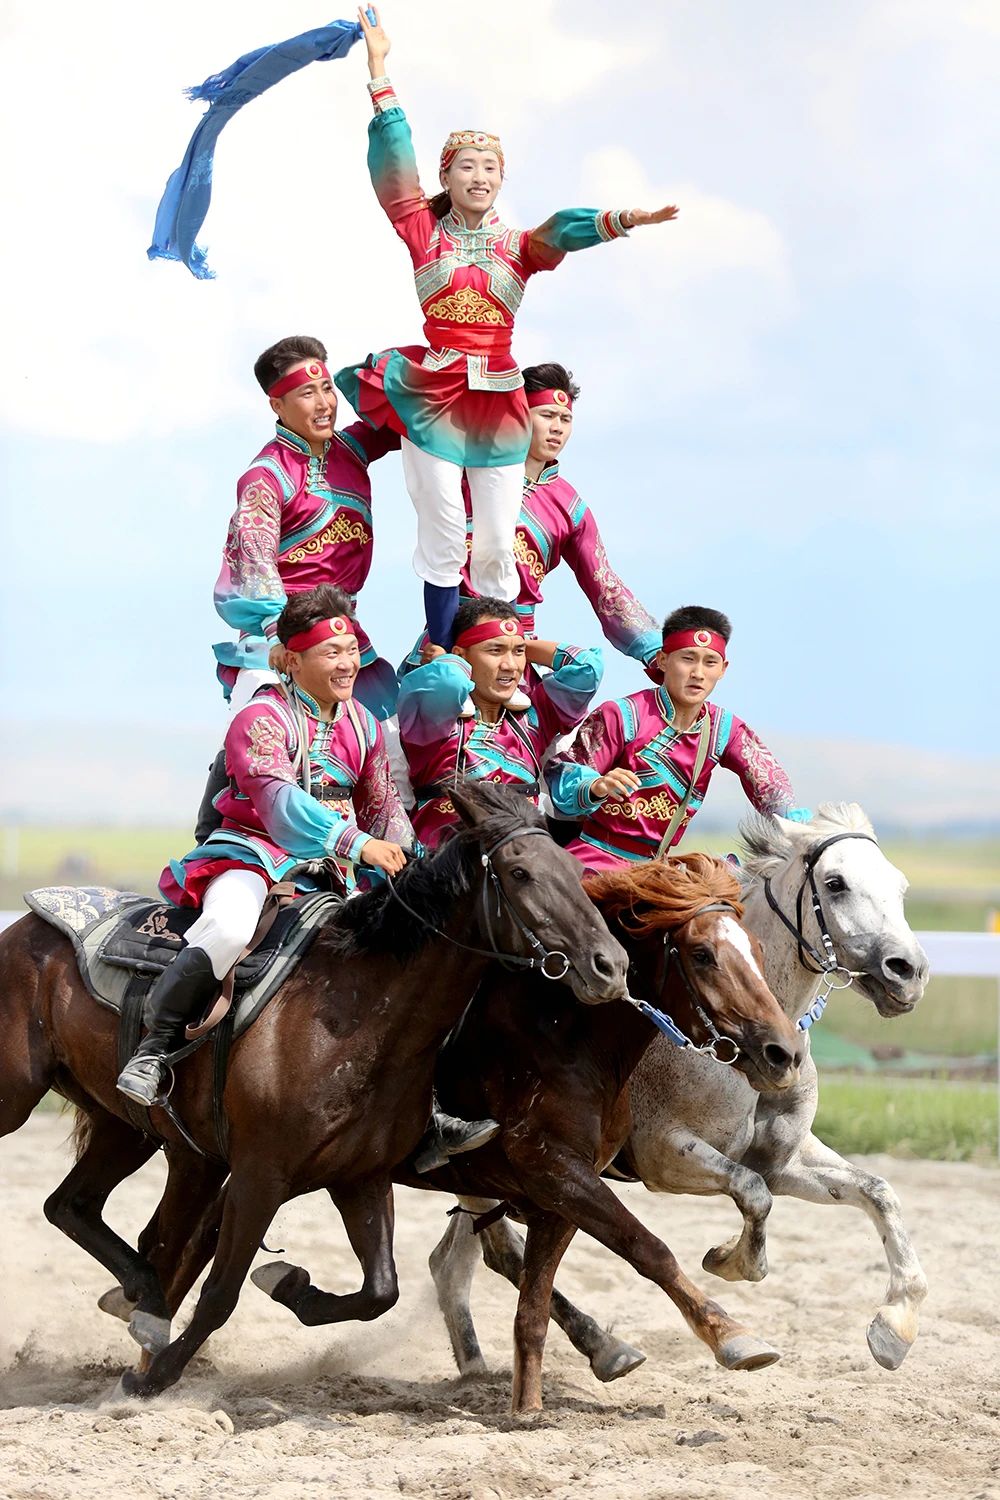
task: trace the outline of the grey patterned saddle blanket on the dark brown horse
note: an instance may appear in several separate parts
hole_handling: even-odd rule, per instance
[[[136,891],[106,886],[52,885],[28,891],[27,906],[73,945],[81,978],[94,1000],[120,1011],[133,975],[148,984],[177,957],[193,908],[151,902]],[[328,891],[300,897],[283,908],[259,948],[237,964],[232,1035],[240,1036],[285,982],[319,927],[343,897]]]

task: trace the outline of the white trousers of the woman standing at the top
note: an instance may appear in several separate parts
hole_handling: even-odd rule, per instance
[[[414,572],[424,584],[457,588],[465,567],[465,500],[462,474],[472,496],[472,556],[469,580],[489,598],[517,598],[520,579],[514,564],[514,531],[520,514],[523,465],[468,468],[424,453],[402,440],[403,480],[417,512]]]

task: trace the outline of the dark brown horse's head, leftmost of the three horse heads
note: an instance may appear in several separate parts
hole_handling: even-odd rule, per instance
[[[579,862],[552,842],[538,810],[495,782],[466,780],[450,796],[465,825],[451,843],[472,846],[481,868],[471,940],[501,957],[534,960],[588,1005],[621,999],[628,956],[583,891]]]

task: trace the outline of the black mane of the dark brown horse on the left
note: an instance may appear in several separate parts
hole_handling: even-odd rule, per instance
[[[466,778],[456,790],[475,808],[478,820],[459,826],[435,854],[412,860],[396,876],[396,890],[417,916],[393,897],[387,882],[379,882],[372,891],[352,896],[319,928],[316,945],[331,958],[361,952],[412,957],[433,936],[432,927],[447,926],[454,903],[468,896],[480,878],[484,848],[517,828],[544,826],[541,813],[528,798],[501,783]]]

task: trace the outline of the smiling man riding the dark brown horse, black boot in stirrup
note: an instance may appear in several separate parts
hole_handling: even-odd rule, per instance
[[[150,992],[148,1035],[118,1078],[139,1104],[153,1104],[163,1058],[253,936],[270,885],[324,861],[351,890],[358,867],[376,879],[402,870],[412,842],[379,723],[351,696],[361,645],[348,596],[328,584],[292,594],[277,640],[291,687],[264,687],[234,716],[222,825],[160,876],[162,896],[201,916]],[[307,872],[294,879],[316,885]]]

